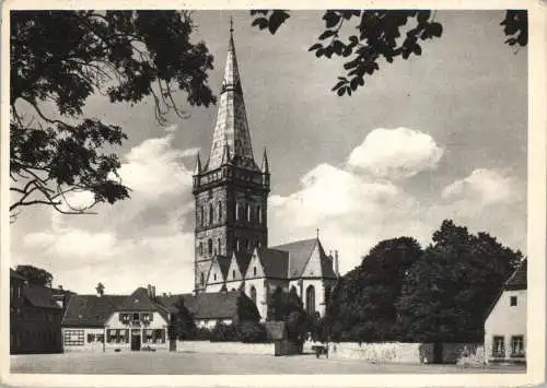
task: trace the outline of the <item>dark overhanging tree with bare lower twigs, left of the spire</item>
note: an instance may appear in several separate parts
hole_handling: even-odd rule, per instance
[[[190,105],[216,102],[207,84],[212,56],[190,43],[189,12],[12,11],[10,27],[12,216],[35,204],[89,213],[129,198],[109,153],[127,133],[83,117],[90,95],[131,104],[152,96],[160,124],[170,110],[184,117],[176,89]],[[71,205],[67,196],[78,191],[93,201]]]

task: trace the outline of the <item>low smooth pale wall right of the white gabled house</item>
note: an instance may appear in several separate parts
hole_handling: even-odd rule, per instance
[[[274,343],[177,341],[177,352],[274,355]]]

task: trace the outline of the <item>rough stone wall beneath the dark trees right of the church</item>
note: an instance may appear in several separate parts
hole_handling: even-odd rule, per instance
[[[421,364],[433,360],[433,345],[400,342],[329,343],[328,356],[330,358],[362,360],[373,364]]]

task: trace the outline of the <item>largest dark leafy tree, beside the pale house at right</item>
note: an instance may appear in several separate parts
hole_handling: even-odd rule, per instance
[[[452,221],[432,239],[404,281],[398,332],[415,342],[481,341],[486,314],[522,254]]]

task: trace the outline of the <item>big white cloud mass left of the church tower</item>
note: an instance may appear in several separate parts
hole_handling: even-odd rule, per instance
[[[32,262],[54,274],[55,284],[93,293],[129,293],[153,283],[165,292],[194,286],[191,171],[182,157],[195,150],[174,149],[175,128],[127,152],[119,169],[131,198],[101,204],[97,215],[50,211],[49,226],[12,242],[12,264]],[[84,205],[90,193],[71,193],[71,205]],[[48,214],[46,212],[45,214]]]

